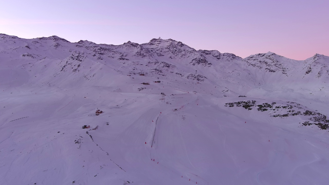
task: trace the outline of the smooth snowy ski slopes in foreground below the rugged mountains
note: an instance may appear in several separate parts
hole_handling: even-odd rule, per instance
[[[225,106],[264,99],[145,87],[4,88],[0,184],[328,182],[329,133],[303,117]]]

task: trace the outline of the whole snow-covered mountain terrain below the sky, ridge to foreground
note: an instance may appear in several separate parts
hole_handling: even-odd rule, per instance
[[[328,65],[0,34],[0,184],[325,184]]]

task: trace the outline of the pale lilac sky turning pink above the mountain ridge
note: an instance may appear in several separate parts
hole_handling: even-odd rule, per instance
[[[328,7],[328,0],[11,0],[1,3],[0,33],[115,45],[161,37],[242,58],[271,51],[304,60],[329,56]]]

